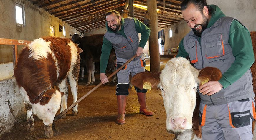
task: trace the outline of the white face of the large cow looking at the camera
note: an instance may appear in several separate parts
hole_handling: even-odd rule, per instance
[[[192,128],[192,116],[196,105],[198,70],[185,58],[173,58],[166,63],[160,75],[166,110],[166,129],[185,131]]]

